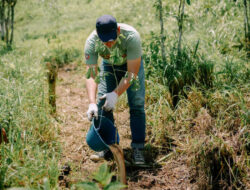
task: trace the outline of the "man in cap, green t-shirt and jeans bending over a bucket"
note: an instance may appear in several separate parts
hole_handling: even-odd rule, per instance
[[[100,65],[99,84],[95,81],[99,70],[98,55],[103,58]],[[87,116],[90,121],[93,117],[102,115],[114,122],[113,110],[117,99],[127,91],[132,134],[131,147],[134,163],[137,165],[145,164],[143,156],[146,126],[145,80],[141,56],[140,35],[132,26],[117,23],[111,15],[103,15],[97,19],[96,30],[90,34],[85,43],[87,69],[94,71],[86,80],[89,98]],[[135,82],[135,79],[139,81]],[[138,83],[139,88],[134,90]],[[110,152],[100,152],[91,158],[96,160],[107,154]]]

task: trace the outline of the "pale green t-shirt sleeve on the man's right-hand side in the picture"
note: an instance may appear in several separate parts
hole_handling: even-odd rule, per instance
[[[140,58],[142,55],[141,38],[139,33],[130,35],[127,46],[127,60]]]

